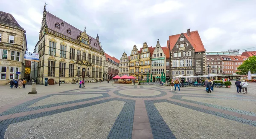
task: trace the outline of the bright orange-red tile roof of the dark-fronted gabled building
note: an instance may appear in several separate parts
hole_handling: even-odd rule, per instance
[[[202,40],[199,36],[198,31],[191,31],[190,36],[188,36],[187,33],[183,33],[183,35],[186,37],[189,43],[195,48],[195,52],[205,51],[204,45],[202,43]],[[174,48],[179,37],[180,37],[180,34],[169,36],[170,50]]]

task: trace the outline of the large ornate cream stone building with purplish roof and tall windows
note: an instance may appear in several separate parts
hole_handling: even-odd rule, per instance
[[[103,79],[105,57],[99,36],[89,36],[85,27],[84,31],[75,28],[50,14],[45,6],[38,45],[38,83],[44,84],[45,78],[49,84]]]

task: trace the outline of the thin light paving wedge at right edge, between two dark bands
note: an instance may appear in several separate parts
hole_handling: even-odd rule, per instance
[[[256,102],[247,99],[244,100],[227,100],[227,99],[211,99],[211,98],[199,98],[183,96],[182,99],[188,99],[198,102],[204,102],[213,105],[220,105],[229,108],[237,108],[244,111],[256,113]]]

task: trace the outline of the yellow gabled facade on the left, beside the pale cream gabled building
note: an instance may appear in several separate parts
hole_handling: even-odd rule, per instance
[[[140,53],[136,45],[131,50],[129,75],[136,79],[139,79],[140,76]]]

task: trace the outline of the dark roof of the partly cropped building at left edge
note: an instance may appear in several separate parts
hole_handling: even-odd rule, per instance
[[[9,25],[9,26],[14,26],[16,28],[20,28],[24,30],[19,23],[15,20],[15,18],[12,16],[12,14],[0,11],[0,23]]]

